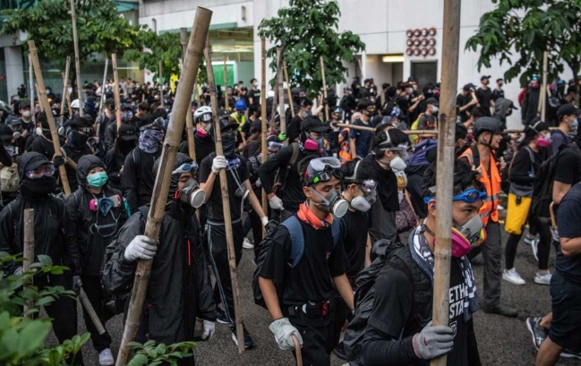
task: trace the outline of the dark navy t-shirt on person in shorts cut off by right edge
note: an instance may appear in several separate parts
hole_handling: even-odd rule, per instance
[[[581,237],[581,184],[575,184],[560,201],[557,226],[561,238]],[[581,254],[566,257],[560,248],[555,261],[557,270],[568,281],[581,286]]]

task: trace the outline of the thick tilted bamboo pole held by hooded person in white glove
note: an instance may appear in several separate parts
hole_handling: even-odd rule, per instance
[[[156,183],[153,186],[151,195],[150,213],[145,225],[144,235],[154,239],[159,237],[159,230],[164,216],[167,192],[174,170],[175,155],[184,131],[185,111],[188,98],[192,95],[193,82],[198,73],[201,61],[201,52],[206,42],[209,30],[209,21],[212,12],[208,9],[198,7],[192,26],[192,34],[188,43],[186,63],[180,75],[180,83],[175,92],[175,110],[170,115],[167,126],[166,140],[161,153],[161,164],[156,176]],[[140,324],[143,301],[147,292],[148,282],[151,273],[151,260],[139,260],[135,269],[135,280],[133,282],[132,295],[127,308],[127,320],[125,322],[124,334],[119,346],[116,366],[123,366],[127,363],[129,356],[128,344],[132,342],[137,328]],[[167,284],[171,285],[171,284]]]

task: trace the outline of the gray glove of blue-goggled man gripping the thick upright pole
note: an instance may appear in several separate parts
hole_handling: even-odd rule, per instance
[[[431,322],[414,336],[415,355],[431,360],[449,353],[454,346],[454,330],[445,326],[433,327]]]

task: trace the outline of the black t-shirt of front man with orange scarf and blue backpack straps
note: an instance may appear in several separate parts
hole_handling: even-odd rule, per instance
[[[315,230],[300,219],[299,222],[303,226],[304,252],[296,267],[289,268],[287,264],[292,243],[286,227],[279,226],[261,268],[262,278],[281,285],[285,305],[329,300],[333,296],[331,278],[345,273],[343,243],[339,241],[333,248],[331,228]]]

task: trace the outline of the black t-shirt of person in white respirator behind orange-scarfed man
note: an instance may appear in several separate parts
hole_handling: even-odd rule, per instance
[[[344,242],[347,256],[346,274],[348,278],[356,278],[359,272],[365,268],[369,214],[357,210],[347,210],[345,216],[341,218],[347,227]]]

